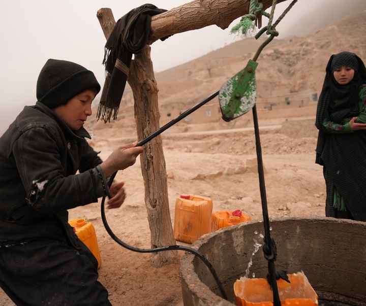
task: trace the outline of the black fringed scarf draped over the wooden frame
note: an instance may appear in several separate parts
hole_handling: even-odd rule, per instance
[[[97,112],[98,120],[102,118],[104,123],[107,123],[111,118],[117,119],[132,55],[141,52],[147,44],[151,16],[166,11],[152,4],[145,4],[131,10],[116,22],[104,47],[103,64],[106,78]]]

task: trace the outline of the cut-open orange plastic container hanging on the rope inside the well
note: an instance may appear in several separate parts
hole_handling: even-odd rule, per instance
[[[282,305],[318,306],[318,295],[303,273],[289,274],[288,278],[291,283],[277,281]],[[234,283],[234,295],[236,305],[273,306],[273,291],[266,279],[240,278]]]

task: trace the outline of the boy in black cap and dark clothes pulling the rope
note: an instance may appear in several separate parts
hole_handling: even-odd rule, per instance
[[[0,286],[17,305],[110,305],[98,262],[68,224],[68,209],[109,196],[119,208],[124,183],[107,178],[133,165],[136,143],[102,161],[83,124],[100,91],[93,72],[49,59],[26,106],[0,138]],[[76,174],[79,171],[79,174]]]

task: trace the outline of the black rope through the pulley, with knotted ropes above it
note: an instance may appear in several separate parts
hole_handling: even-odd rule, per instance
[[[292,8],[292,6],[296,2],[297,2],[297,0],[293,0],[292,3],[290,4],[290,6],[280,16],[280,18],[273,25],[271,25],[271,22],[273,19],[273,13],[274,13],[273,6],[276,6],[276,3],[277,3],[277,0],[273,0],[271,14],[269,15],[269,17],[270,17],[269,23],[266,27],[264,27],[262,30],[260,30],[260,32],[258,32],[258,34],[256,35],[256,39],[258,39],[264,31],[267,31],[267,34],[269,34],[270,37],[258,48],[258,50],[253,58],[254,61],[257,60],[257,58],[258,58],[259,54],[261,53],[261,51],[263,50],[263,48],[270,41],[272,41],[275,36],[279,35],[278,31],[276,31],[276,28],[275,28],[276,25],[283,19],[283,17],[288,13],[288,11]],[[268,13],[263,11],[263,4],[258,3],[258,0],[251,0],[250,13],[251,13],[251,14],[249,14],[250,17],[244,18],[245,16],[243,16],[242,20],[248,19],[248,20],[250,20],[250,22],[252,24],[253,24],[252,21],[258,20],[260,23],[261,15],[268,16]],[[254,19],[253,19],[252,15],[255,16]],[[247,22],[245,22],[245,23],[247,23]],[[251,25],[250,25],[250,27],[251,27]],[[240,26],[238,27],[238,29],[240,29]],[[212,93],[210,96],[208,96],[207,98],[202,100],[199,104],[197,104],[194,108],[186,111],[182,115],[187,116],[188,114],[192,113],[194,110],[197,110],[199,107],[201,107],[202,105],[207,103],[209,100],[216,97],[218,94],[219,94],[219,90],[216,91],[215,93]],[[174,124],[174,123],[178,122],[179,120],[181,120],[182,118],[184,118],[184,116],[180,116],[176,120],[172,120],[171,123],[166,124],[166,126],[163,126],[163,128],[160,128],[155,133],[153,133],[150,136],[148,136],[147,138],[141,140],[137,144],[137,146],[144,145],[146,142],[150,141],[151,139],[153,139],[154,137],[159,135],[161,132],[163,132],[165,129],[170,127],[172,124]],[[253,121],[254,121],[254,131],[255,131],[255,139],[256,139],[256,148],[257,148],[259,185],[260,185],[260,193],[261,193],[261,198],[262,198],[262,210],[263,210],[264,229],[265,229],[265,236],[264,236],[265,244],[263,246],[263,252],[264,252],[265,258],[268,260],[268,271],[269,271],[269,276],[267,276],[267,279],[268,279],[268,283],[270,285],[272,284],[271,287],[273,288],[273,306],[281,306],[281,301],[280,301],[279,294],[278,294],[276,279],[279,279],[279,278],[286,279],[287,275],[286,275],[286,271],[281,271],[280,273],[277,273],[276,269],[275,269],[275,264],[274,264],[274,261],[276,260],[276,257],[277,257],[277,250],[276,250],[275,241],[270,237],[268,208],[267,208],[266,194],[265,194],[266,191],[265,191],[265,183],[264,183],[263,161],[262,161],[262,153],[261,153],[261,145],[260,145],[260,137],[259,137],[258,116],[257,116],[257,110],[256,110],[255,105],[253,107]],[[111,175],[111,177],[109,179],[109,187],[112,184],[116,174],[117,174],[117,172],[115,172],[114,174]],[[139,252],[139,253],[154,253],[154,252],[161,252],[161,251],[182,250],[182,251],[186,251],[186,252],[195,254],[206,264],[206,266],[210,270],[212,276],[214,277],[214,279],[217,283],[218,289],[220,290],[222,297],[227,300],[227,295],[225,293],[225,290],[222,286],[221,281],[218,278],[215,268],[199,251],[197,251],[193,248],[190,248],[190,247],[177,246],[177,245],[161,247],[161,248],[154,248],[154,249],[138,249],[138,248],[129,246],[128,244],[126,244],[123,241],[121,241],[120,239],[118,239],[118,237],[114,234],[114,232],[108,225],[108,222],[107,222],[107,219],[105,216],[105,211],[104,211],[105,200],[106,200],[106,196],[103,197],[102,203],[101,203],[101,217],[102,217],[104,227],[106,228],[107,232],[109,233],[109,235],[112,237],[112,239],[115,242],[117,242],[119,245],[125,247],[126,249],[129,249],[134,252]],[[277,294],[277,296],[275,296],[276,294]]]

